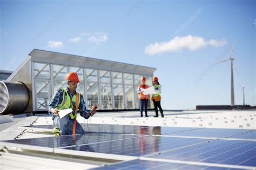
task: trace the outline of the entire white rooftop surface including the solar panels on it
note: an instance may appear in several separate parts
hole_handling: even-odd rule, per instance
[[[89,120],[78,117],[86,134],[75,137],[54,137],[48,114],[4,115],[0,165],[25,169],[256,168],[256,111],[165,111],[164,118],[153,118],[153,111],[148,114],[149,118],[140,118],[138,111],[100,112]]]

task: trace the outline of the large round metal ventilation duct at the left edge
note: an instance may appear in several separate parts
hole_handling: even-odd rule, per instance
[[[29,104],[29,92],[22,82],[0,81],[0,114],[22,113]]]

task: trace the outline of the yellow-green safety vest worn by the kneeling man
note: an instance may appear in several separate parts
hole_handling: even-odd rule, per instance
[[[63,110],[63,109],[68,109],[68,108],[72,108],[73,110],[76,109],[76,106],[73,108],[72,103],[76,103],[76,94],[73,95],[72,100],[70,101],[70,96],[69,93],[66,89],[61,89],[62,93],[63,93],[63,99],[62,99],[62,103],[57,105],[58,110]],[[78,106],[80,104],[80,93],[78,94]],[[68,116],[71,119],[77,118],[77,113],[75,115],[73,115],[73,113],[69,113]]]

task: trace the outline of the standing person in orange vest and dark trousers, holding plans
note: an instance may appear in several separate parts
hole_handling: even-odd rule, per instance
[[[142,78],[142,84],[138,87],[138,97],[140,101],[140,117],[143,117],[143,108],[145,106],[145,116],[147,116],[147,101],[149,100],[149,95],[144,95],[141,89],[149,88],[148,85],[145,84],[146,78]]]

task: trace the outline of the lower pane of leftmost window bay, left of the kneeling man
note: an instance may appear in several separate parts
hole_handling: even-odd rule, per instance
[[[49,81],[36,81],[37,108],[47,109],[50,100]]]

